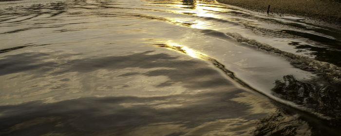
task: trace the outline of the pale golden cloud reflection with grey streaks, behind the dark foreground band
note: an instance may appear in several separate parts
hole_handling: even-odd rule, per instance
[[[0,73],[7,78],[2,98],[9,100],[2,103],[10,104],[14,98],[20,100],[13,103],[94,95],[162,96],[224,90],[231,85],[207,62],[187,56],[145,51],[71,60],[68,54],[57,53],[58,59],[50,58],[55,56],[31,52],[2,57]]]

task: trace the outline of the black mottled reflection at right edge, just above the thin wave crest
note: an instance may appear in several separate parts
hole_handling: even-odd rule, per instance
[[[341,125],[341,86],[330,85],[322,79],[300,81],[292,75],[283,76],[275,84],[272,89],[275,96],[314,109],[334,118],[335,125]]]

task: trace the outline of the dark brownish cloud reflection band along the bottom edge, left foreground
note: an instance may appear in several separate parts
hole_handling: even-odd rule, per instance
[[[216,132],[219,128],[225,130],[223,128],[228,124],[237,125],[253,118],[254,115],[244,112],[248,106],[228,100],[236,97],[235,94],[239,91],[149,98],[88,97],[50,104],[36,101],[15,106],[0,106],[2,111],[0,118],[5,121],[1,128],[9,130],[2,134],[104,135],[108,133],[121,136],[140,132],[143,128],[159,131],[157,134],[171,134],[177,131],[182,134],[205,134],[210,132],[212,124],[215,128],[212,132]],[[174,100],[175,103],[182,103],[183,106],[155,107],[174,103]],[[121,106],[126,103],[141,104]],[[150,105],[145,105],[146,103]],[[19,126],[20,129],[16,129]],[[172,130],[171,127],[179,129],[168,131]],[[248,127],[253,128],[252,125]],[[239,130],[245,131],[246,128]],[[203,129],[207,132],[200,131]],[[160,132],[162,130],[165,132]],[[236,130],[227,130],[230,133],[233,131]]]

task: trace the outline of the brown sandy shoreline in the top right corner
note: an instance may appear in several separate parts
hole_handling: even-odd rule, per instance
[[[270,5],[270,14],[291,14],[311,17],[321,21],[340,24],[340,0],[217,0],[248,10],[265,12]]]

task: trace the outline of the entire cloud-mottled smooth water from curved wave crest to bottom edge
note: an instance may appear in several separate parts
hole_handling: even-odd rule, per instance
[[[6,122],[0,134],[248,136],[258,119],[275,110],[208,62],[156,50],[91,58],[74,53],[73,59],[63,59],[69,54],[60,51],[58,59],[51,58],[54,52],[2,57],[2,77],[25,81],[19,92],[10,90],[16,83],[2,86],[7,100],[17,100],[2,103],[41,101],[0,106]]]

